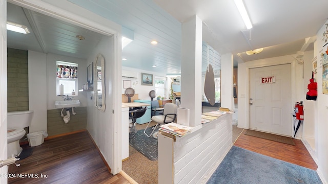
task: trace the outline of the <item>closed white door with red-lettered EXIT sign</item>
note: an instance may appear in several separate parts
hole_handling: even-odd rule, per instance
[[[292,135],[291,64],[251,68],[250,129]]]

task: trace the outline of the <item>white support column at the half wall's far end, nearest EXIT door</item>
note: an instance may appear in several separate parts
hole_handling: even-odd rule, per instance
[[[221,107],[234,110],[234,61],[231,53],[221,56],[221,68],[224,68],[221,70]]]

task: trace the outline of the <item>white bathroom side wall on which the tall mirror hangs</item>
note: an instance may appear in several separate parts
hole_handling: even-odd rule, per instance
[[[88,59],[88,63],[95,62],[96,56],[101,54],[105,58],[105,69],[102,71],[105,80],[105,111],[100,111],[94,104],[94,92],[86,92],[88,99],[87,129],[108,165],[113,169],[113,36],[104,36]],[[95,63],[94,63],[95,64]],[[94,74],[95,75],[95,74]],[[95,76],[94,76],[95,79]],[[104,87],[104,86],[103,86]],[[120,114],[120,113],[119,113]],[[120,124],[119,124],[120,125]],[[111,133],[112,132],[112,133]]]

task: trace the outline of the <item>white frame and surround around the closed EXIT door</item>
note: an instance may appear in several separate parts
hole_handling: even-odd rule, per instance
[[[291,64],[291,107],[296,102],[296,61],[293,55],[279,56],[255,61],[248,61],[238,64],[238,127],[250,128],[250,87],[249,72],[251,68],[273,66],[280,64]],[[292,116],[292,109],[291,116]],[[291,122],[293,134],[293,122]]]

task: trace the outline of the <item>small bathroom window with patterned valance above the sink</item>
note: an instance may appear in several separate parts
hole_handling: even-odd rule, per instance
[[[77,95],[77,63],[57,61],[56,64],[57,96],[72,95],[72,91],[75,91],[75,95]],[[61,94],[59,90],[60,84],[64,86],[63,94]]]

